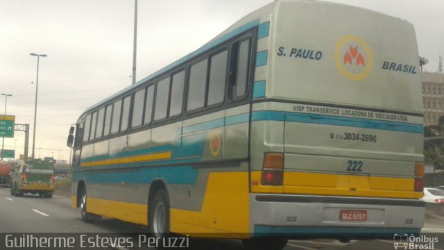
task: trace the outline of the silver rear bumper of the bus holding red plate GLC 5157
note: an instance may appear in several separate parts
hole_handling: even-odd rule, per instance
[[[424,220],[425,203],[416,199],[250,194],[255,237],[393,239],[395,233],[419,233]]]

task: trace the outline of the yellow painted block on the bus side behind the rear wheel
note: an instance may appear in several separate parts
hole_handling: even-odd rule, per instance
[[[207,185],[203,184],[205,194],[202,206],[198,210],[171,208],[170,230],[205,238],[246,237],[249,230],[246,164],[241,169],[244,171],[228,172],[229,169],[226,169],[227,172],[207,173]],[[190,199],[193,194],[191,192]]]

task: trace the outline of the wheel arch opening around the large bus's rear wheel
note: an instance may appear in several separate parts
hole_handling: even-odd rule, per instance
[[[156,238],[169,233],[170,201],[167,185],[158,179],[151,182],[148,192],[148,227]]]

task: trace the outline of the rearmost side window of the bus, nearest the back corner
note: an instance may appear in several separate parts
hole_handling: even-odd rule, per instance
[[[248,66],[250,65],[250,39],[239,44],[236,72],[236,97],[246,94]]]

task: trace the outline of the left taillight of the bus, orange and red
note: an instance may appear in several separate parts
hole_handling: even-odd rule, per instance
[[[266,153],[262,167],[262,185],[282,185],[284,181],[284,154]]]

